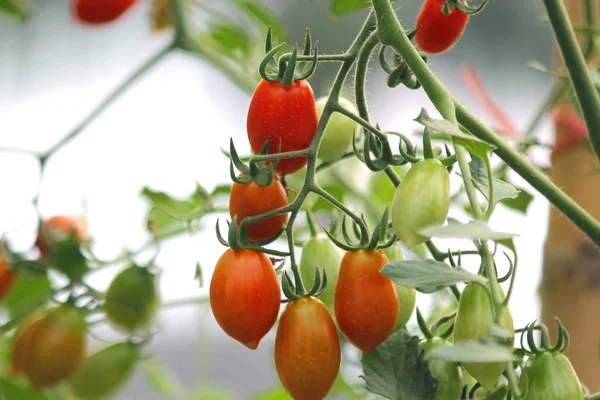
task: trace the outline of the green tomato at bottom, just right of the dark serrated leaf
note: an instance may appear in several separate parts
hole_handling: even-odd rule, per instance
[[[444,343],[445,341],[441,338],[433,338],[421,341],[419,347],[427,353],[444,345]],[[438,387],[433,400],[460,399],[463,380],[458,364],[443,360],[429,360],[428,364],[431,375],[438,380]]]

